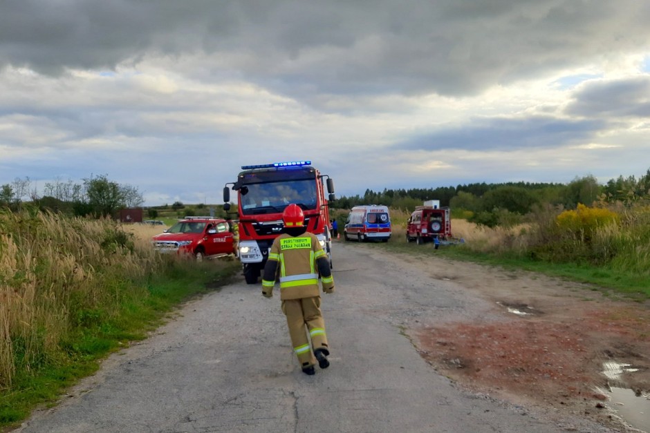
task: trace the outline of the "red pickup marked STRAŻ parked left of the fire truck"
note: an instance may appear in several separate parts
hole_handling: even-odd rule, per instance
[[[177,253],[203,258],[234,254],[234,233],[226,220],[210,217],[187,217],[164,233],[151,238],[160,253]]]

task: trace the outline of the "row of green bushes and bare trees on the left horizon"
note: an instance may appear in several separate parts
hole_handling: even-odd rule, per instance
[[[30,203],[39,209],[75,216],[105,217],[123,208],[142,206],[144,202],[138,188],[113,182],[107,175],[91,175],[81,183],[57,178],[45,184],[42,195],[29,177],[0,185],[0,206],[12,211]]]

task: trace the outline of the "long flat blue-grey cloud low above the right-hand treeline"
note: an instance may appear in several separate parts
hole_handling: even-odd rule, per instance
[[[438,151],[508,151],[519,148],[555,148],[581,143],[605,128],[601,121],[565,120],[554,117],[528,119],[474,119],[470,124],[422,133],[397,148]]]

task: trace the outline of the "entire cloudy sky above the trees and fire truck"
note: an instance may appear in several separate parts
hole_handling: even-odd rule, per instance
[[[338,195],[650,168],[650,1],[0,0],[0,184],[221,203],[308,159]]]

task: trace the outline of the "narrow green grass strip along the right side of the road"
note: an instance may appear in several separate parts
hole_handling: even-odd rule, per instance
[[[494,254],[477,253],[462,245],[453,245],[434,249],[433,244],[407,244],[401,240],[391,239],[387,243],[364,244],[371,248],[387,249],[398,253],[416,256],[438,256],[449,260],[459,260],[503,267],[504,269],[521,269],[542,273],[574,282],[591,285],[591,289],[602,291],[604,294],[620,294],[640,302],[650,299],[650,277],[622,273],[607,267],[594,267],[588,264],[549,263],[530,258],[515,256],[496,256]]]

